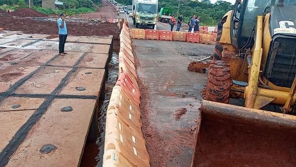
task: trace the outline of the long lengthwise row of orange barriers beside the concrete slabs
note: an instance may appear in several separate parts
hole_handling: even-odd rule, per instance
[[[149,167],[130,31],[120,33],[119,73],[107,110],[103,167]]]

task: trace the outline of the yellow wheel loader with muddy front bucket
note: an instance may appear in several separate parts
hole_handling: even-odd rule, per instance
[[[218,32],[192,167],[295,167],[296,0],[236,0]]]

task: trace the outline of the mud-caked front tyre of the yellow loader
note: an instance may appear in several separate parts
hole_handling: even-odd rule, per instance
[[[230,94],[230,66],[225,61],[213,61],[208,72],[207,87],[203,90],[202,96],[205,100],[229,103]]]

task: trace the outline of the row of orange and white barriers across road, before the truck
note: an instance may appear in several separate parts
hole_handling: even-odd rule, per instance
[[[206,30],[202,30],[199,33],[186,33],[181,31],[165,31],[165,30],[143,30],[132,29],[133,39],[143,40],[164,40],[164,41],[183,41],[193,43],[206,43],[210,44],[216,41],[217,34]]]

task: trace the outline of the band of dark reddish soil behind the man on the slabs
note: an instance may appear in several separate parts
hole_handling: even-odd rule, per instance
[[[37,21],[32,19],[12,18],[0,16],[0,27],[4,30],[22,31],[27,34],[57,35],[58,28],[55,21]],[[117,23],[79,23],[67,22],[68,34],[72,36],[113,36],[113,51],[119,52],[119,28]]]

